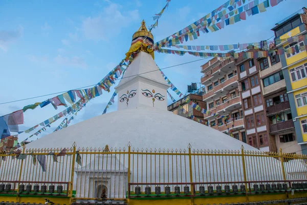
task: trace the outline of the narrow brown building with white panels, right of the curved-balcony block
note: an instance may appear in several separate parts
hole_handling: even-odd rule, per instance
[[[256,51],[258,50],[253,48],[247,50],[247,52]],[[260,85],[259,70],[262,64],[261,58],[245,58],[244,52],[239,53],[239,57],[235,60],[244,113],[243,121],[249,145],[261,151],[276,151],[275,139],[269,132],[265,99]]]

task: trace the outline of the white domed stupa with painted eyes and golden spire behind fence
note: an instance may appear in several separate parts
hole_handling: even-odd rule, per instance
[[[153,36],[146,29],[144,21],[140,29],[133,35],[132,42],[127,57],[133,55],[134,59],[125,70],[123,78],[115,88],[118,91],[118,110],[84,120],[39,138],[28,144],[27,149],[71,147],[75,142],[77,147],[96,147],[105,150],[105,152],[112,148],[127,148],[127,144],[136,150],[151,148],[152,150],[173,149],[184,152],[183,150],[187,150],[187,147],[190,146],[195,150],[238,151],[244,146],[245,150],[258,151],[229,135],[167,111],[167,89],[169,85],[166,83],[153,59],[153,51],[150,50]],[[108,149],[106,149],[106,145]],[[76,165],[77,167],[75,168],[74,190],[77,190],[76,197],[98,198],[103,192],[106,193],[108,198],[120,198],[127,193],[127,161],[124,164],[124,161],[121,161],[122,158],[116,155],[101,156],[98,154],[93,158],[86,156],[85,158],[83,156],[82,166]],[[150,155],[150,161],[151,159],[152,161],[156,160],[156,156]],[[180,159],[183,160],[182,158]],[[209,180],[210,177],[210,180],[217,181],[220,175],[222,177],[222,172],[224,176],[227,173],[227,177],[228,173],[230,173],[229,180],[233,180],[233,177],[236,176],[240,179],[243,178],[243,171],[233,163],[227,163],[227,161],[223,161],[222,165],[220,163],[224,170],[216,170],[214,175],[214,167],[217,165],[215,161],[210,162],[211,159],[208,159],[209,162],[205,161],[204,163],[208,167],[210,163],[212,164],[210,169],[213,175],[211,172],[210,176],[209,173],[206,173],[205,177],[207,179],[204,179],[204,173],[202,173],[202,180]],[[135,156],[133,160],[137,163],[137,160],[141,161],[143,158]],[[240,158],[237,157],[235,160],[236,163],[241,163]],[[275,167],[279,167],[279,161],[276,159],[271,161],[276,164]],[[169,166],[173,166],[173,164],[170,165],[170,162],[165,162],[163,167],[160,167],[159,159],[159,169],[163,168],[164,170],[164,167],[166,169],[167,163]],[[246,165],[250,167],[251,164],[255,163],[260,162],[249,161],[246,162]],[[105,167],[108,167],[109,170],[105,169]],[[147,173],[147,168],[148,165],[144,162],[139,167],[139,170],[142,169],[142,172],[146,170]],[[181,163],[181,161],[173,169],[187,170],[185,162]],[[189,176],[189,170],[185,172],[185,175]],[[231,175],[231,172],[235,173],[236,176]],[[160,173],[156,173],[156,169],[155,172],[152,170],[148,176],[146,174],[146,179],[143,176],[140,178],[139,172],[136,169],[131,171],[130,174],[132,176],[130,182],[147,182],[147,179],[148,181],[151,180],[150,182],[154,182],[162,180],[162,177],[166,181],[170,179],[170,176],[164,176],[165,173],[160,176]],[[191,176],[196,178],[199,175],[199,171],[195,171]],[[270,174],[268,173],[267,175]],[[153,178],[151,179],[151,176],[154,180]],[[280,173],[275,174],[275,176],[279,178]],[[264,179],[266,178],[265,176],[263,177]],[[239,178],[237,178],[237,181],[239,181]],[[189,180],[190,178],[187,179],[187,177],[185,179],[177,178],[177,182],[189,182]],[[144,191],[144,188],[145,186],[142,187],[142,191]],[[164,188],[162,187],[161,191],[163,190]]]

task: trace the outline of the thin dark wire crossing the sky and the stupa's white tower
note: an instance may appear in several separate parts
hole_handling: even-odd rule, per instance
[[[182,65],[185,65],[185,64],[194,63],[194,62],[196,62],[196,61],[204,60],[204,59],[207,59],[207,58],[211,58],[211,57],[205,57],[205,58],[202,58],[202,59],[193,60],[193,61],[189,61],[189,62],[186,62],[186,63],[182,63],[182,64],[178,64],[178,65],[174,65],[174,66],[169,66],[169,67],[165,67],[165,68],[161,68],[160,70],[164,70],[164,69],[167,69],[167,68],[173,68],[173,67],[177,67],[177,66],[182,66]],[[153,71],[148,71],[148,72],[144,72],[144,73],[140,73],[140,74],[136,74],[136,75],[131,75],[131,76],[127,76],[127,77],[122,77],[121,79],[128,78],[128,77],[134,77],[134,76],[137,76],[137,75],[142,75],[142,74],[151,73],[151,72],[155,72],[155,71],[160,71],[160,70],[157,69],[157,70],[153,70]],[[121,79],[115,79],[115,80],[121,80]],[[114,80],[114,81],[115,81],[115,80]],[[102,83],[104,83],[104,81],[103,81]],[[80,87],[80,88],[76,88],[76,89],[72,89],[72,90],[78,90],[78,89],[87,88],[87,87],[92,87],[92,86],[96,86],[96,85],[97,85],[97,84],[89,85],[89,86],[84,86],[84,87]],[[68,91],[70,91],[70,90],[61,91],[61,92],[56,92],[56,93],[51,93],[51,94],[46,94],[46,95],[39,95],[39,96],[29,97],[29,98],[24,98],[24,99],[18,99],[18,100],[7,101],[7,102],[5,102],[5,103],[0,103],[0,105],[9,104],[9,103],[15,103],[15,102],[23,101],[23,100],[27,100],[27,99],[34,99],[34,98],[38,98],[38,97],[45,97],[45,96],[48,96],[48,95],[54,95],[54,94],[59,94],[59,93],[68,92]]]

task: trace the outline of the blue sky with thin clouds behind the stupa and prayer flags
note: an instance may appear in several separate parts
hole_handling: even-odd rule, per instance
[[[152,30],[155,41],[190,25],[226,0],[172,0]],[[152,17],[165,6],[165,0],[130,1],[1,1],[0,2],[0,103],[76,89],[98,83],[128,51],[131,36],[140,27],[153,24]],[[306,6],[304,0],[287,0],[267,12],[208,34],[186,45],[224,45],[259,42],[274,35],[275,23]],[[271,38],[273,39],[273,38]],[[155,54],[160,68],[185,63],[198,57]],[[165,69],[164,73],[181,90],[200,82],[201,60]],[[90,101],[72,124],[100,115],[113,92]],[[173,93],[173,92],[172,92]],[[174,93],[173,93],[174,94]],[[35,98],[0,105],[0,116],[51,98]],[[179,99],[176,94],[174,98]],[[170,102],[170,101],[169,101]],[[63,108],[51,105],[25,112],[24,130],[46,120]],[[108,111],[115,111],[117,104]],[[44,136],[58,126],[52,124]],[[101,125],[103,126],[103,125]],[[19,135],[23,140],[29,134]],[[33,137],[36,139],[36,137]]]

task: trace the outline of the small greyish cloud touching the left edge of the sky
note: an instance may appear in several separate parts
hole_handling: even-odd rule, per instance
[[[0,49],[7,51],[9,44],[23,36],[23,33],[24,28],[22,26],[18,26],[16,30],[0,30]]]

